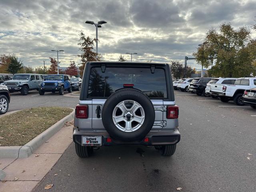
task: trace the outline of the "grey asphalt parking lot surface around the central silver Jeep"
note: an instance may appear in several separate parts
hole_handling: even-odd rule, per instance
[[[22,97],[18,106],[20,97],[12,96],[11,110],[35,105],[74,107],[78,102],[58,94],[42,96],[40,104],[38,96]],[[180,107],[181,141],[174,156],[160,156],[154,147],[115,146],[81,159],[72,143],[34,191],[54,184],[49,191],[172,192],[181,187],[185,192],[255,192],[256,111],[180,91],[175,91],[175,99]]]

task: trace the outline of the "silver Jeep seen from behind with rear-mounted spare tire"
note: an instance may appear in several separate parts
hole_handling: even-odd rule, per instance
[[[74,118],[76,154],[145,145],[171,156],[180,141],[178,113],[168,64],[87,62]]]

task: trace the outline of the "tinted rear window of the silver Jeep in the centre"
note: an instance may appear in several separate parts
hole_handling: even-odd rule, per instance
[[[106,98],[124,84],[134,84],[134,88],[141,90],[149,98],[167,98],[166,79],[164,69],[156,68],[152,74],[150,68],[101,68],[91,70],[88,87],[88,97]]]

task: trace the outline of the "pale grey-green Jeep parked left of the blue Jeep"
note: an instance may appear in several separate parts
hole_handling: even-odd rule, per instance
[[[12,80],[4,82],[10,93],[21,92],[27,95],[29,90],[38,90],[38,84],[44,80],[42,74],[14,74]]]

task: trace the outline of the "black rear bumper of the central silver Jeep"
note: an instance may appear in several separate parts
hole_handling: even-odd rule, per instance
[[[102,136],[102,146],[111,146],[111,145],[171,145],[176,144],[180,141],[180,132],[178,129],[174,131],[150,131],[146,137],[149,138],[148,142],[136,141],[136,142],[124,142],[119,140],[112,139],[112,142],[107,142],[107,138],[110,138],[110,135],[106,131],[79,131],[78,128],[74,128],[73,131],[73,141],[76,144],[81,145],[82,136]]]

